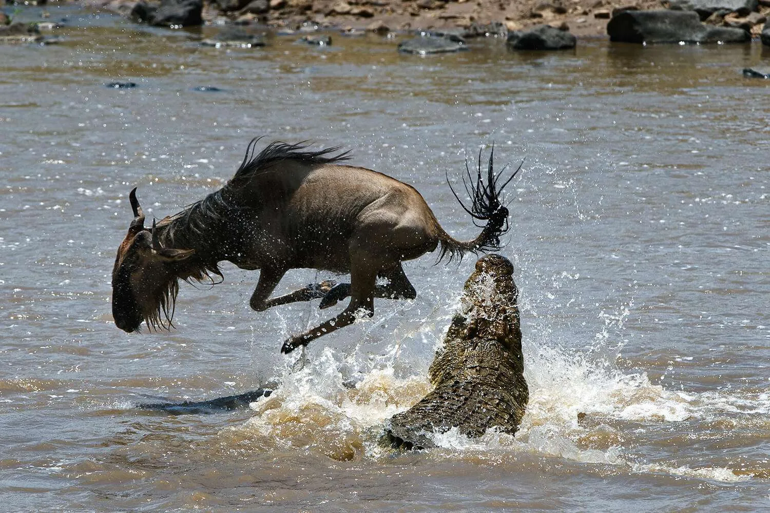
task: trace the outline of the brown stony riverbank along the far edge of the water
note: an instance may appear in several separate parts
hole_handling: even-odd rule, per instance
[[[22,0],[0,0],[7,3]],[[26,0],[30,3],[46,0]],[[742,28],[759,37],[770,0],[82,0],[87,8],[115,12],[153,25],[235,22],[283,30],[336,28],[350,32],[442,30],[464,35],[507,35],[552,25],[577,37],[607,37],[617,12],[675,9],[698,12],[714,27]]]

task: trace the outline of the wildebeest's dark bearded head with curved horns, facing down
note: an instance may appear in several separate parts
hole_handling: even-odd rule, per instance
[[[112,268],[112,317],[115,325],[128,333],[138,330],[142,321],[151,329],[170,328],[179,291],[179,268],[193,250],[162,248],[155,222],[152,230],[144,227],[136,188],[129,199],[134,220]]]

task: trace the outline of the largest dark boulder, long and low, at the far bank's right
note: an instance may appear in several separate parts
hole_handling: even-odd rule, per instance
[[[623,11],[607,24],[607,33],[612,42],[628,43],[751,41],[751,35],[742,28],[702,24],[694,11]]]

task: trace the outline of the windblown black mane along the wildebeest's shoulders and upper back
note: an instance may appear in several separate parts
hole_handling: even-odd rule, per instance
[[[337,155],[330,155],[340,151],[339,146],[332,146],[331,148],[323,148],[316,151],[305,151],[310,147],[310,143],[307,141],[298,142],[294,145],[290,145],[286,142],[274,141],[265,147],[259,155],[254,156],[256,143],[262,137],[255,137],[249,142],[246,147],[246,155],[243,156],[243,162],[241,162],[238,171],[227,183],[228,188],[238,188],[249,182],[249,179],[260,171],[269,168],[275,162],[282,160],[298,160],[306,162],[310,165],[316,164],[333,164],[335,162],[342,162],[350,159],[350,150],[347,152],[338,153]]]

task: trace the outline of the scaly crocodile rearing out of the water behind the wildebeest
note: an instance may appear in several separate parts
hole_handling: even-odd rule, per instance
[[[513,272],[511,262],[500,255],[476,262],[444,348],[428,370],[436,388],[390,418],[385,438],[392,445],[435,447],[431,434],[451,428],[468,437],[493,427],[511,435],[517,431],[529,389]]]

